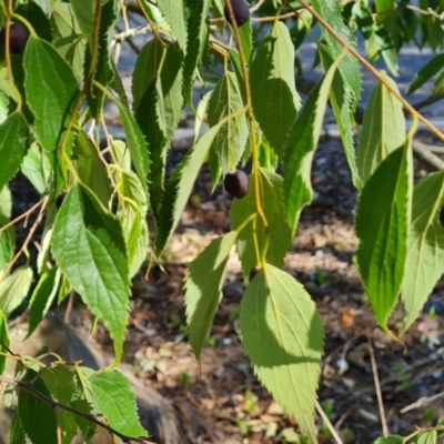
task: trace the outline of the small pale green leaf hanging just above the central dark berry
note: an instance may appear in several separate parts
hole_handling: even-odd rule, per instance
[[[238,80],[232,72],[225,72],[218,82],[209,103],[208,122],[218,124],[223,118],[244,108]],[[245,113],[230,119],[216,134],[213,148],[222,167],[222,174],[235,170],[245,149],[249,125]]]

